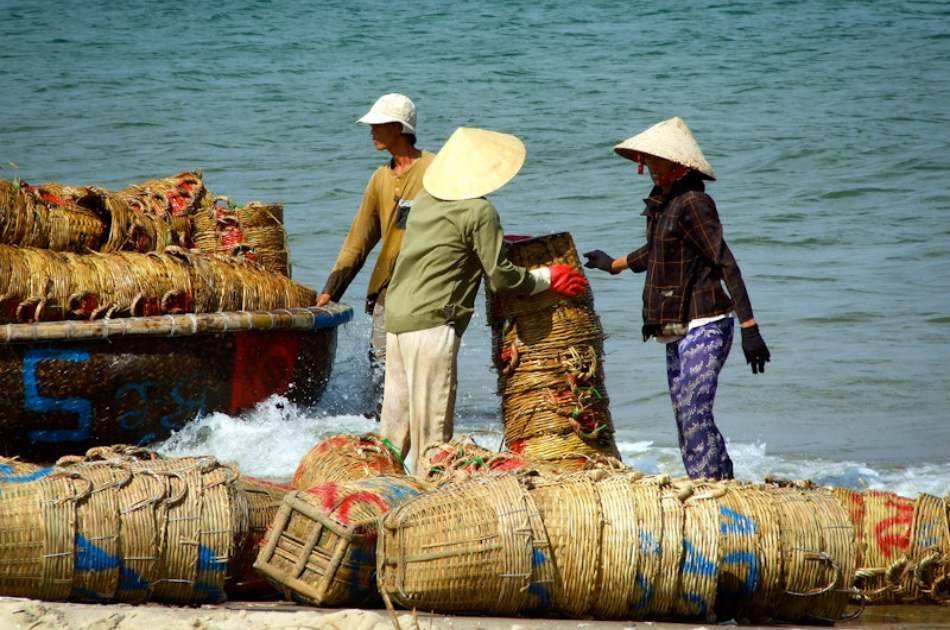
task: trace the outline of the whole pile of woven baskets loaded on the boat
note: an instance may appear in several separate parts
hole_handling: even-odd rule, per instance
[[[0,247],[0,318],[33,322],[313,303],[313,291],[288,280],[281,206],[252,202],[229,211],[239,226],[232,243],[238,247],[207,246],[208,230],[212,240],[219,233],[215,221],[210,228],[205,221],[215,213],[197,171],[119,192],[0,180],[0,244],[12,246]],[[195,241],[208,255],[188,253]]]

